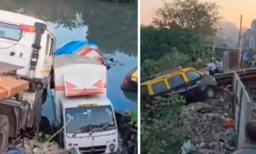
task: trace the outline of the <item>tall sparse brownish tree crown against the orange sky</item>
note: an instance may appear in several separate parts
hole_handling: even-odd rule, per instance
[[[168,29],[180,28],[202,35],[215,35],[222,20],[219,9],[220,6],[216,3],[198,0],[166,2],[156,11],[153,25]]]

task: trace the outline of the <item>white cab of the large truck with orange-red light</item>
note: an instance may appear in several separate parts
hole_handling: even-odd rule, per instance
[[[56,39],[45,22],[27,15],[0,10],[0,62],[21,66],[17,74],[29,81],[29,91],[47,88],[55,53]]]

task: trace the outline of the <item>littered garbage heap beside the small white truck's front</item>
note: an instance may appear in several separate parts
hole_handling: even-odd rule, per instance
[[[10,144],[8,150],[1,154],[73,154],[73,152],[61,149],[54,142],[38,142],[24,138]]]

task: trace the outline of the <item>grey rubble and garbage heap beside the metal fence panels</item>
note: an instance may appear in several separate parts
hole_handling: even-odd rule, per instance
[[[224,154],[235,150],[235,128],[232,111],[225,96],[187,107],[189,138],[195,145],[190,153]]]

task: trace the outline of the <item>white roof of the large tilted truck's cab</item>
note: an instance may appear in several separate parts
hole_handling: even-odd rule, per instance
[[[36,22],[43,23],[47,25],[47,29],[53,33],[53,30],[50,28],[50,25],[47,24],[45,21],[20,14],[20,13],[14,13],[10,11],[0,10],[0,21],[10,24],[17,24],[17,25],[28,25],[28,26],[34,26]]]

